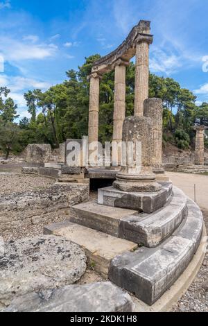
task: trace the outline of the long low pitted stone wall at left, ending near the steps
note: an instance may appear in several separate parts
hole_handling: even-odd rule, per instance
[[[60,184],[21,194],[0,196],[0,233],[6,237],[24,237],[26,225],[53,223],[67,216],[64,210],[89,199],[89,185]],[[59,214],[60,213],[60,214]],[[21,227],[24,230],[21,230]]]

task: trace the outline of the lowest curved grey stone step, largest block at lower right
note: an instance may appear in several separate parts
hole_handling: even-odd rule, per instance
[[[184,223],[157,248],[139,248],[112,259],[109,279],[152,305],[189,265],[200,244],[203,217],[192,200],[187,201]]]

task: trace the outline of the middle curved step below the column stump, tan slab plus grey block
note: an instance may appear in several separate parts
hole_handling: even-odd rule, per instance
[[[153,248],[175,231],[186,212],[187,197],[174,188],[171,200],[151,214],[88,202],[71,207],[70,219],[73,223]]]

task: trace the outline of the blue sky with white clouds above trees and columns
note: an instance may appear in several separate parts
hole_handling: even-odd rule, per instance
[[[114,50],[140,19],[151,20],[150,71],[208,101],[207,0],[0,0],[0,86],[21,117],[23,94],[46,89]]]

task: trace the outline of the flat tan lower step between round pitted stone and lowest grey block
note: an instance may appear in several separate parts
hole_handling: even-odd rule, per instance
[[[85,249],[89,264],[103,277],[107,277],[111,259],[126,251],[137,249],[131,241],[112,237],[109,234],[65,221],[44,227],[44,234],[54,234],[69,239]]]

